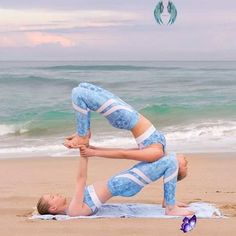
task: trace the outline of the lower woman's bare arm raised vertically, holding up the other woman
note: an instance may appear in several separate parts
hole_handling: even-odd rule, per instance
[[[83,147],[80,147],[80,150],[83,150]],[[72,201],[70,202],[67,211],[67,214],[69,216],[86,215],[83,199],[84,199],[84,188],[86,186],[86,180],[87,180],[87,168],[88,168],[88,158],[83,157],[81,155],[79,158],[79,168],[76,179],[75,195]]]

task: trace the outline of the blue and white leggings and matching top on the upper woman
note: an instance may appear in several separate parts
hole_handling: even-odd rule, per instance
[[[72,90],[72,105],[76,111],[76,129],[79,136],[86,136],[90,129],[90,111],[103,115],[118,129],[131,130],[138,122],[139,113],[111,92],[89,83],[80,83]],[[140,148],[166,141],[162,133],[151,126],[136,138]]]

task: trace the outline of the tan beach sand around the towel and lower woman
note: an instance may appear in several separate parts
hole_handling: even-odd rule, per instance
[[[178,183],[177,199],[210,202],[227,219],[198,219],[191,235],[236,235],[236,154],[188,154],[189,175]],[[182,235],[182,219],[29,220],[28,214],[44,193],[70,197],[78,166],[76,157],[0,160],[0,235]],[[90,158],[88,184],[108,178],[134,161]],[[132,198],[110,202],[161,203],[162,181]]]

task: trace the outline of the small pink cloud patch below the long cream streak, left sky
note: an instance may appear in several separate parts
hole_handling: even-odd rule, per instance
[[[30,32],[26,33],[26,36],[33,46],[40,45],[40,44],[48,44],[48,43],[58,43],[62,47],[73,47],[75,43],[66,37],[48,33],[41,33],[41,32]]]

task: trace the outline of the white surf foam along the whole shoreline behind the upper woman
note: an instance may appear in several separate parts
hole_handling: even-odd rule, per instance
[[[9,133],[10,127],[7,126],[7,129]],[[14,130],[14,127],[12,129]],[[236,122],[234,121],[207,121],[169,126],[162,131],[167,140],[167,151],[236,152]],[[61,144],[63,137],[45,137],[45,139],[41,137],[30,140],[20,138],[17,141],[14,137],[12,139],[5,144],[1,143],[0,158],[8,158],[8,156],[49,155],[59,157],[79,155],[78,149],[67,149]],[[137,147],[135,139],[130,133],[121,131],[93,133],[90,144],[100,147]]]

